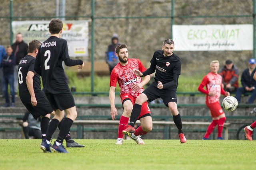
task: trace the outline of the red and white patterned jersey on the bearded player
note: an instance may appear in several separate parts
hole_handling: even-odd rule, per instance
[[[141,72],[144,72],[146,68],[142,65],[139,59],[128,59],[128,64],[122,66],[118,63],[111,72],[110,75],[110,86],[116,87],[116,82],[118,82],[121,89],[120,94],[130,94],[134,97],[138,97],[143,92],[143,87],[136,91],[132,91],[133,82],[141,83],[142,79],[140,76],[136,76],[133,73],[133,69],[137,68]]]

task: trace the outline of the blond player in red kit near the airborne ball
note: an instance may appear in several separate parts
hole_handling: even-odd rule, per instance
[[[206,106],[210,109],[212,115],[212,123],[208,126],[206,134],[203,139],[208,140],[210,134],[218,125],[218,138],[223,140],[222,138],[222,130],[224,122],[226,121],[226,115],[220,106],[220,94],[225,96],[230,96],[229,92],[225,92],[221,87],[222,77],[218,74],[219,70],[219,61],[214,60],[210,64],[211,72],[204,76],[201,84],[198,87],[198,90],[201,93],[206,94]],[[204,86],[206,86],[206,90],[204,90]]]

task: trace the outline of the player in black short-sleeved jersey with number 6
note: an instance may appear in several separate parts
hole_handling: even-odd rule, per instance
[[[38,40],[33,40],[28,44],[28,55],[22,58],[18,65],[18,84],[20,100],[24,106],[33,115],[34,119],[42,117],[40,126],[42,139],[44,139],[50,121],[50,114],[54,116],[55,113],[44,92],[41,90],[40,75],[34,71],[34,64],[40,44]],[[63,120],[58,125],[59,129],[62,122]],[[68,133],[65,140],[67,147],[84,147],[73,141],[70,133]],[[45,150],[45,152],[51,152],[51,150]]]

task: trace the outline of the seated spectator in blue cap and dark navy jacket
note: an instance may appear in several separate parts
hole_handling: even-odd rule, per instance
[[[253,75],[256,72],[256,61],[255,59],[249,60],[249,67],[246,68],[241,76],[241,83],[242,87],[238,88],[236,90],[236,96],[238,103],[241,102],[241,96],[242,94],[245,94],[246,92],[251,92],[251,96],[246,103],[253,103],[256,98],[256,81],[253,79]]]

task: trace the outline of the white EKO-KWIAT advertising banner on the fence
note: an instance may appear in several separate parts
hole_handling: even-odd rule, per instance
[[[253,50],[253,25],[173,25],[175,51]]]

